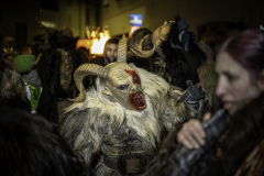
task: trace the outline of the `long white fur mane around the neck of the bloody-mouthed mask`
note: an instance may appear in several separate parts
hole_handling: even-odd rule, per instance
[[[136,68],[134,65],[130,65]],[[151,74],[144,69],[136,68],[141,78],[143,94],[145,96],[146,109],[143,111],[133,111],[124,109],[118,102],[111,102],[103,94],[105,87],[100,84],[100,78],[97,79],[97,90],[92,87],[87,91],[85,102],[75,102],[66,109],[66,113],[74,110],[89,109],[87,117],[89,128],[92,123],[98,122],[98,118],[109,117],[108,125],[112,125],[113,131],[117,130],[123,122],[124,118],[128,120],[128,127],[136,131],[142,138],[143,148],[151,150],[155,147],[155,142],[160,142],[162,123],[160,117],[164,109],[164,96],[166,96],[169,85],[160,76]],[[90,116],[92,114],[92,116]],[[98,145],[95,144],[98,150]]]

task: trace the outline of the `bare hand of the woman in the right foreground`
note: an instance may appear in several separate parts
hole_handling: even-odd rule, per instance
[[[204,116],[204,121],[211,118],[210,113]],[[196,119],[191,119],[184,123],[183,128],[177,134],[178,143],[185,145],[188,150],[198,148],[205,144],[206,133],[201,125],[201,122]]]

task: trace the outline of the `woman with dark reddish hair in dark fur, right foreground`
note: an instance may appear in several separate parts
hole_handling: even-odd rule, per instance
[[[217,55],[216,72],[216,94],[228,112],[229,128],[189,175],[264,175],[264,31],[249,30],[228,38]],[[210,117],[207,113],[204,120]],[[186,122],[165,141],[151,164],[152,174],[172,175],[164,170],[178,143],[196,150],[207,145],[207,135],[199,120]]]

